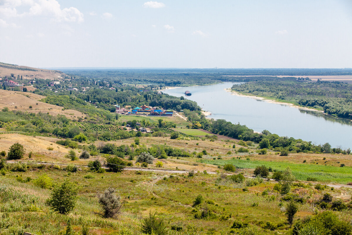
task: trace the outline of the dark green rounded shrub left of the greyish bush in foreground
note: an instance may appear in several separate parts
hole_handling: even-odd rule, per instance
[[[46,200],[46,204],[59,214],[67,215],[72,211],[77,202],[77,188],[68,180],[57,185],[51,192],[51,197]]]

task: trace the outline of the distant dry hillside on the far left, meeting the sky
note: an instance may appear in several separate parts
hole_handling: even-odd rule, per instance
[[[30,69],[30,70],[21,70],[21,69]],[[35,71],[31,71],[35,70]],[[41,79],[50,79],[50,80],[61,80],[66,76],[61,71],[58,70],[49,70],[49,69],[38,69],[27,66],[18,66],[14,64],[6,64],[0,62],[0,76],[1,77],[10,77],[11,74],[15,76],[20,75],[25,78],[41,78]],[[28,75],[28,77],[26,77]]]

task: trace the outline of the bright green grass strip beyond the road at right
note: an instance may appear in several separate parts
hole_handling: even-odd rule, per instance
[[[243,159],[230,159],[230,160],[199,160],[202,163],[214,164],[223,166],[225,164],[233,164],[238,168],[251,168],[256,166],[265,165],[272,169],[284,170],[290,167],[292,173],[298,180],[307,180],[307,177],[314,177],[322,183],[339,183],[347,184],[352,182],[352,168],[351,167],[337,167],[325,166],[313,163],[290,163],[290,162],[275,162],[275,161],[252,161]]]

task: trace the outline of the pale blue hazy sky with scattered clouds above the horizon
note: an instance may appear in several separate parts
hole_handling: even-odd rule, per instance
[[[351,68],[351,0],[0,0],[0,61]]]

